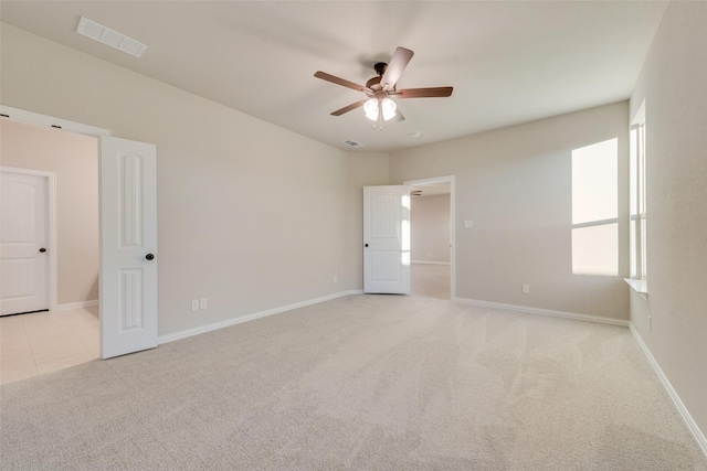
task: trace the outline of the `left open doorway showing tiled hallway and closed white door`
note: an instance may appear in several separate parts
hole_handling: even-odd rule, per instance
[[[45,223],[40,231],[45,234],[40,238],[46,244],[41,244],[41,254],[36,254],[45,263],[45,274],[39,277],[38,286],[32,289],[42,293],[42,306],[21,309],[21,304],[18,304],[14,311],[38,311],[22,314],[12,309],[4,312],[3,308],[6,315],[0,318],[3,360],[0,373],[4,384],[101,356],[99,210],[96,137],[7,118],[2,119],[1,132],[3,183],[19,176],[52,182],[46,186],[46,194],[41,196],[46,214],[36,218]],[[20,215],[27,214],[24,206],[29,202],[24,196],[32,196],[33,192],[24,196],[14,194],[18,193],[14,190],[23,186],[27,185],[22,181],[3,185],[6,216],[12,210],[8,206],[10,200],[14,201],[12,204]],[[6,190],[12,190],[11,193],[18,197],[6,199],[10,196],[4,194]],[[22,237],[18,239],[3,231],[3,244],[6,238],[9,245],[21,245],[18,242]],[[3,265],[8,267],[22,265],[21,261],[3,258]],[[36,267],[30,268],[28,271],[34,271]],[[14,298],[21,299],[28,288],[18,282],[18,279],[24,278],[22,272],[3,270],[2,276],[3,287],[11,285],[18,288]],[[3,292],[3,301],[7,296],[10,295]]]

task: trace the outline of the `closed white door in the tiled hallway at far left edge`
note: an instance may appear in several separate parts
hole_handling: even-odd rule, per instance
[[[0,175],[0,314],[48,310],[49,179]]]

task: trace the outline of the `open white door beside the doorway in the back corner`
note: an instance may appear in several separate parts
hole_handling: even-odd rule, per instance
[[[410,295],[410,188],[363,188],[363,291]]]

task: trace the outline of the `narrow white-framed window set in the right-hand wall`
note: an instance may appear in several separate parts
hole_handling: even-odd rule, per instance
[[[645,106],[641,105],[631,126],[630,163],[630,237],[631,279],[645,280],[646,260],[646,197],[645,197]]]

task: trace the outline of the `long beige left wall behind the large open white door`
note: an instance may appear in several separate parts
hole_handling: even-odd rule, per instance
[[[3,105],[157,144],[160,335],[361,288],[360,186],[388,179],[386,154],[360,158],[7,24],[1,61]],[[192,312],[197,298],[209,309]]]

